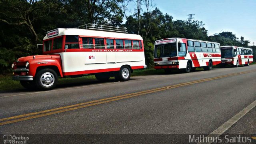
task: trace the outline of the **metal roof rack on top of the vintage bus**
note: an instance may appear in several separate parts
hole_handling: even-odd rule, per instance
[[[115,26],[104,26],[104,25],[99,25],[99,24],[84,24],[84,25],[78,26],[76,28],[127,33],[127,28],[118,28]]]

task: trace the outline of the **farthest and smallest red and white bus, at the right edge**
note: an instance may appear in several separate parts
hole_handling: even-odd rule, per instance
[[[221,46],[221,66],[239,65],[249,66],[253,62],[252,48],[242,48],[238,46]]]

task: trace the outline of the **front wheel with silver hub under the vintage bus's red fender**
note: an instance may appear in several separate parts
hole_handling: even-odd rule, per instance
[[[36,73],[35,83],[38,90],[52,90],[58,83],[58,74],[50,68],[44,68]]]

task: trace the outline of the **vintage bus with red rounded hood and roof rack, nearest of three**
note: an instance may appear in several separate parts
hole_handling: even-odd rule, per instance
[[[22,86],[49,90],[58,77],[95,74],[106,81],[130,79],[135,69],[146,68],[142,37],[124,28],[87,24],[82,28],[57,28],[47,32],[43,54],[19,58],[12,64],[13,80]]]

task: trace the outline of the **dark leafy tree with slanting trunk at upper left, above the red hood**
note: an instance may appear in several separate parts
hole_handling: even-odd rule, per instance
[[[0,21],[12,26],[25,25],[33,36],[34,44],[36,44],[38,35],[33,22],[51,12],[50,4],[44,0],[1,0]]]

